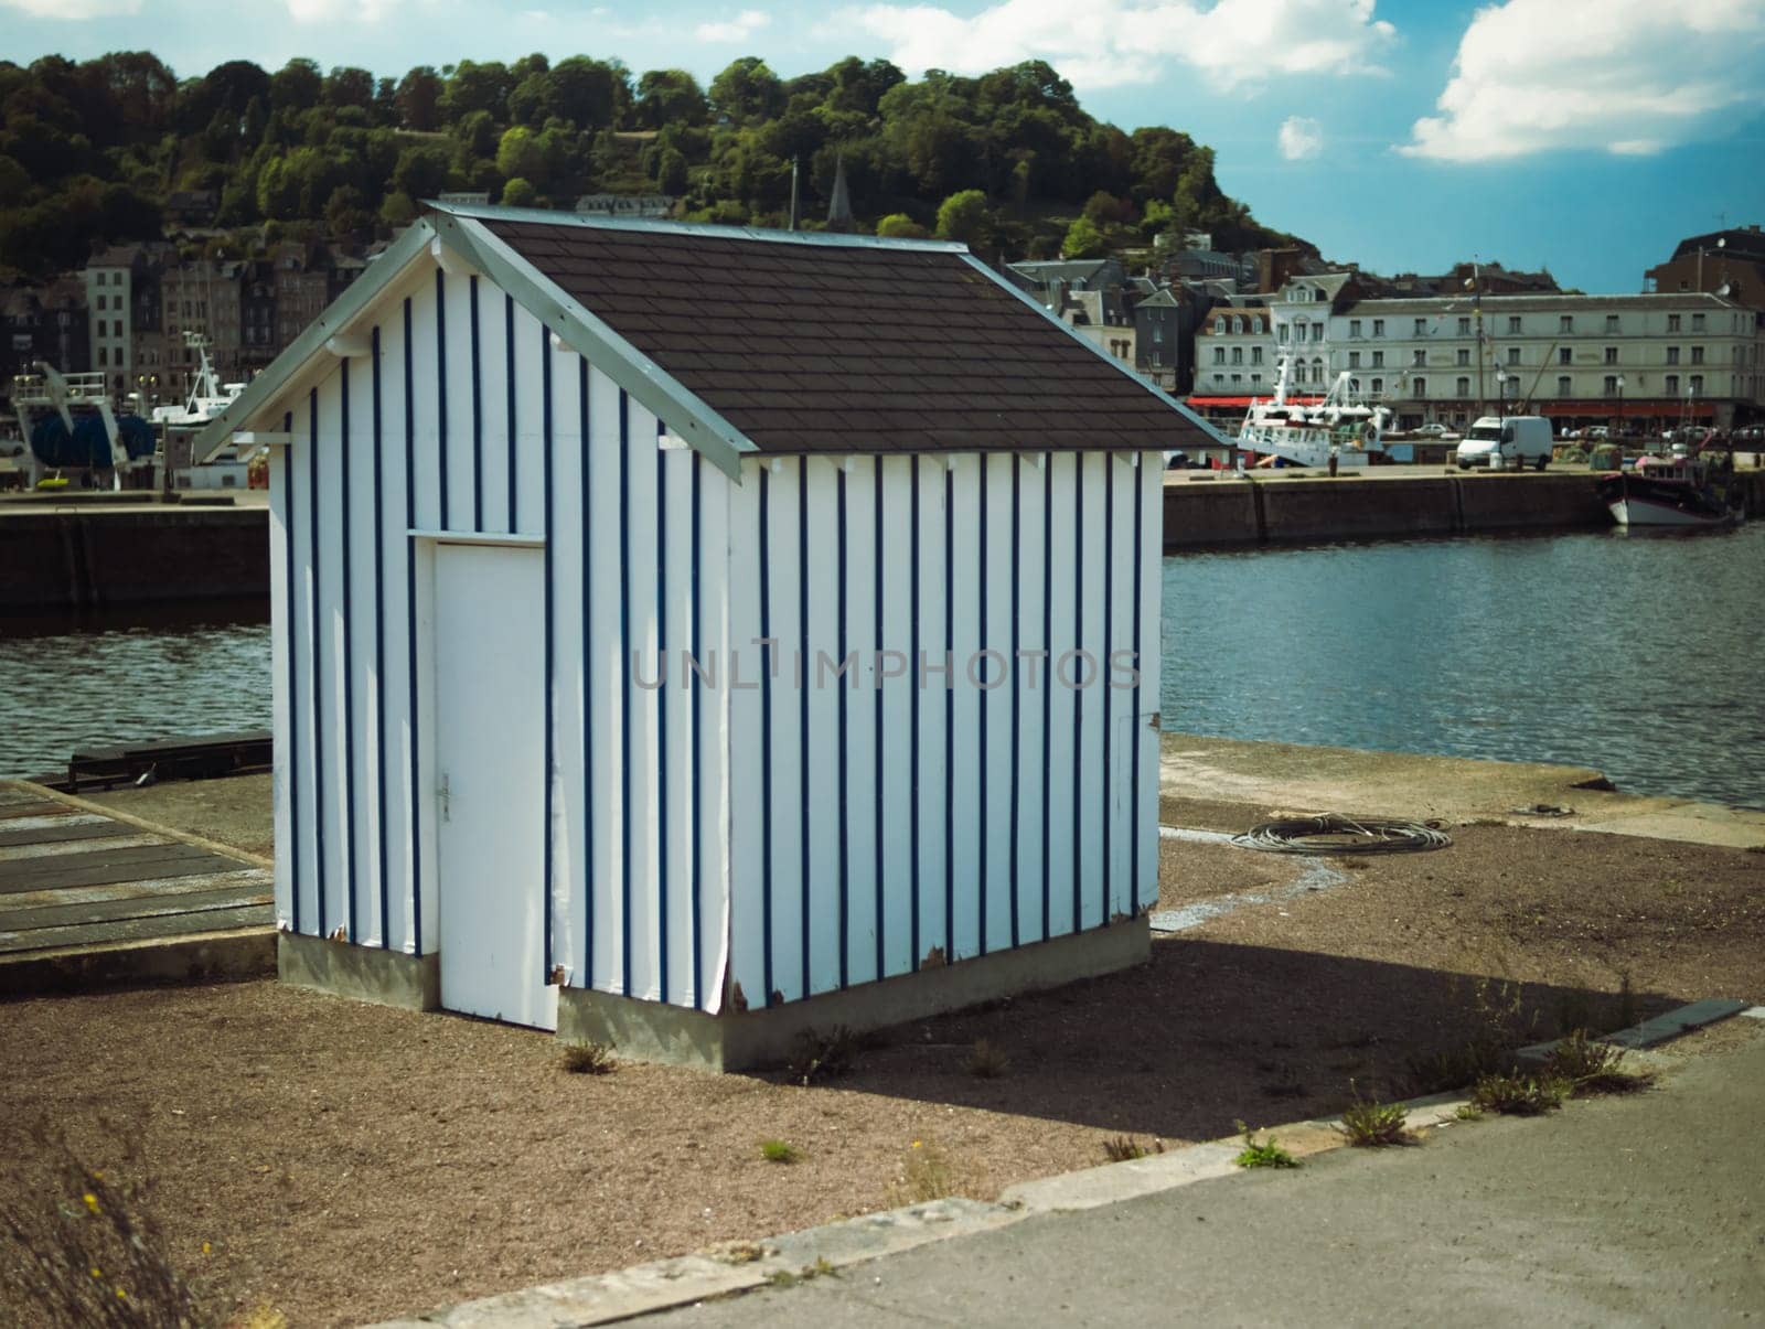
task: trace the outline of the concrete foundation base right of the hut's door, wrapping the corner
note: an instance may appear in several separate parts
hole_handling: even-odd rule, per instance
[[[1147,920],[1133,918],[1075,937],[921,969],[808,1001],[752,1011],[725,1010],[722,1015],[588,988],[561,988],[558,1038],[567,1043],[605,1043],[618,1055],[634,1061],[713,1071],[775,1066],[785,1061],[792,1040],[805,1029],[882,1029],[1145,964],[1151,948]]]

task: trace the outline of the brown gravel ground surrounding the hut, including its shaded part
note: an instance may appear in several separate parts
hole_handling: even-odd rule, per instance
[[[256,822],[252,784],[116,805],[265,847],[267,782]],[[1228,831],[1262,817],[1175,812]],[[0,1197],[48,1204],[30,1130],[49,1123],[95,1165],[154,1177],[210,1304],[348,1324],[941,1186],[990,1198],[1103,1161],[1115,1135],[1202,1140],[1326,1114],[1350,1080],[1412,1092],[1421,1059],[1488,1027],[1479,1004],[1514,1004],[1518,1031],[1548,1036],[1765,995],[1765,856],[1453,833],[1433,854],[1338,861],[1340,881],[1290,895],[1303,865],[1285,856],[1167,840],[1161,907],[1280,898],[1160,939],[1140,969],[890,1031],[851,1075],[807,1089],[639,1064],[567,1075],[542,1034],[274,983],[18,1001],[0,1015]],[[1004,1075],[969,1071],[978,1040]],[[800,1161],[762,1161],[770,1138]]]

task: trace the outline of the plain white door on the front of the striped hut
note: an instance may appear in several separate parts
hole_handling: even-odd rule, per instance
[[[436,547],[441,1004],[558,1027],[545,983],[545,558]]]

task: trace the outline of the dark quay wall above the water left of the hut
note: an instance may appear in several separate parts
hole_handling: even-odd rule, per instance
[[[0,508],[0,612],[268,593],[267,508]]]

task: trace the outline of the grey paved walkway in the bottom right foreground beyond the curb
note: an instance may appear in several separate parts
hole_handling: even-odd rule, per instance
[[[1765,1318],[1765,1029],[1661,1091],[944,1241],[646,1325],[1744,1324]]]

